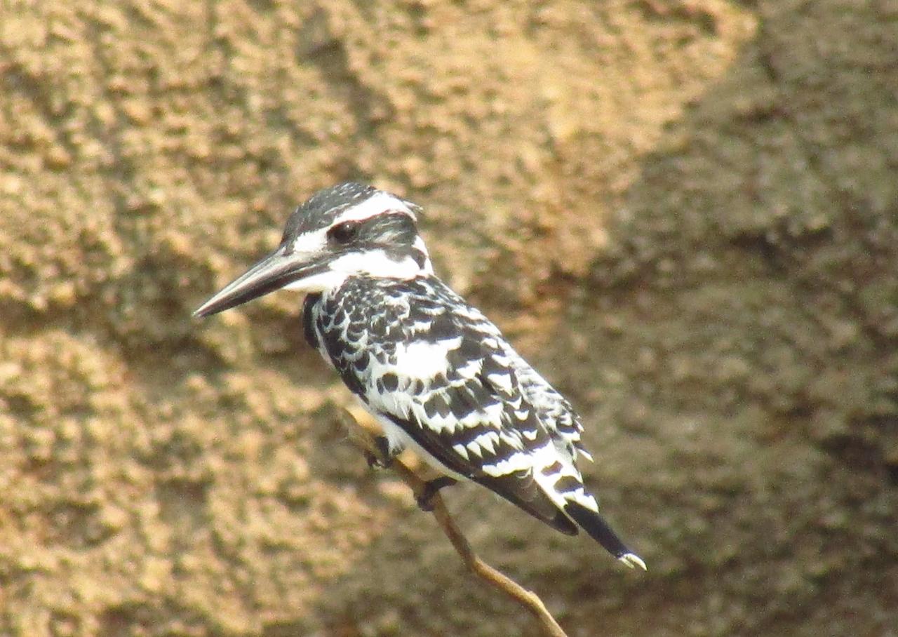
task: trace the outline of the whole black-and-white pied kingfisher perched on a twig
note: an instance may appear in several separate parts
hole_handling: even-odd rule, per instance
[[[383,427],[392,458],[411,447],[443,476],[477,482],[568,535],[585,529],[618,560],[646,568],[585,489],[583,427],[480,311],[437,279],[420,208],[344,183],[296,208],[274,252],[194,313],[208,316],[286,288],[306,293],[305,339]]]

